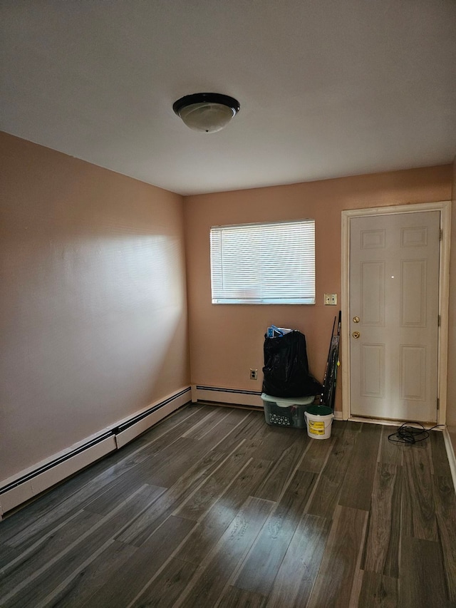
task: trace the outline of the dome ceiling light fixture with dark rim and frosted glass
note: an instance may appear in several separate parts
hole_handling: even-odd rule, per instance
[[[239,101],[220,93],[195,93],[181,97],[172,109],[187,127],[204,133],[222,130],[239,112]]]

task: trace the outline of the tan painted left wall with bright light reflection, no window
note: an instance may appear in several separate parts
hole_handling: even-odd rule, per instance
[[[190,383],[183,200],[0,134],[0,481]]]

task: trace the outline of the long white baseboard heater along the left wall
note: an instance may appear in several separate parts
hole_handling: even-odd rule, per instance
[[[78,470],[118,450],[135,437],[138,437],[172,411],[190,402],[191,388],[167,396],[158,403],[148,406],[135,415],[125,418],[97,436],[78,443],[68,450],[55,455],[33,468],[5,480],[0,488],[0,519],[3,513],[14,509],[48,490],[51,486],[70,477]]]

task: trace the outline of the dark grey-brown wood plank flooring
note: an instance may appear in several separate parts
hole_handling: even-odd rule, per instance
[[[186,406],[0,522],[4,608],[456,608],[441,433]]]

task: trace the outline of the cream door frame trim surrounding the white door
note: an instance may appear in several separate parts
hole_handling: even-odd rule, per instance
[[[450,295],[450,242],[451,242],[451,201],[423,202],[393,207],[370,207],[342,212],[342,276],[341,276],[341,357],[342,357],[342,418],[343,420],[363,420],[351,416],[350,396],[350,222],[353,217],[367,215],[398,215],[399,213],[420,213],[440,211],[440,264],[439,264],[439,314],[438,361],[437,361],[437,424],[445,424],[447,416],[447,369],[448,369],[448,304]],[[375,419],[379,422],[381,419]],[[391,421],[385,421],[392,423]]]

